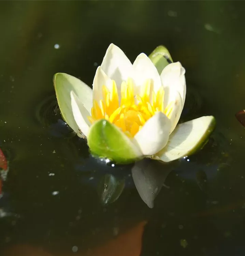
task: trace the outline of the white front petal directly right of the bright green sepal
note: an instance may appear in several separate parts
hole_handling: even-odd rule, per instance
[[[134,136],[143,155],[154,155],[159,152],[168,142],[170,128],[171,121],[162,112],[147,120]]]

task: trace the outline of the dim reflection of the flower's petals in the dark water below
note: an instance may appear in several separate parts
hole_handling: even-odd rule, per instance
[[[163,163],[157,160],[143,159],[132,166],[132,175],[121,176],[120,173],[118,176],[117,172],[111,174],[108,169],[108,173],[100,178],[97,185],[100,201],[104,204],[113,203],[119,198],[125,187],[132,188],[134,184],[142,200],[149,208],[153,208],[156,196],[162,186],[165,186],[165,179],[175,166],[176,162]],[[128,168],[130,167],[128,166]]]

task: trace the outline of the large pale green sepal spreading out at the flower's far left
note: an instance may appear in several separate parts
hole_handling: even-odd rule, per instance
[[[65,122],[78,132],[71,107],[71,91],[79,98],[84,108],[90,114],[92,108],[92,89],[84,82],[66,73],[54,75],[54,87],[61,114]]]

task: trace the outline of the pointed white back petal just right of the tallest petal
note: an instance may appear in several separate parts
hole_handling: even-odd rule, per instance
[[[153,81],[151,89],[155,92],[162,86],[156,67],[144,53],[138,55],[133,62],[133,78],[136,86],[142,86],[146,79],[151,79]]]

